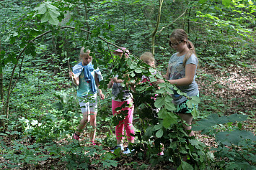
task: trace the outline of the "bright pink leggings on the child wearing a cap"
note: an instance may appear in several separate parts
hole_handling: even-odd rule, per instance
[[[112,100],[112,113],[113,115],[118,114],[118,112],[115,110],[115,108],[121,107],[123,103],[131,103],[132,100],[118,102],[115,100]],[[123,126],[125,126],[126,136],[128,138],[128,141],[131,141],[134,139],[133,136],[131,136],[131,133],[134,134],[133,130],[133,110],[134,106],[123,108],[122,110],[128,110],[128,115],[125,116],[125,119],[123,121],[120,121],[118,123],[118,126],[115,126],[115,135],[117,140],[123,139]],[[122,135],[122,136],[120,136]]]

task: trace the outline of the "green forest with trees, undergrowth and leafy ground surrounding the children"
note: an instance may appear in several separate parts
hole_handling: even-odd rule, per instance
[[[255,1],[2,0],[0,7],[0,169],[256,169]],[[199,98],[168,81],[151,85],[175,53],[174,29],[195,46]],[[83,115],[69,70],[81,47],[103,77],[95,145],[89,123],[80,141],[73,138]],[[113,55],[121,47],[128,58]],[[156,68],[141,62],[144,52]],[[122,116],[112,115],[107,84],[125,74],[123,84],[135,84],[130,154],[110,151]],[[198,105],[195,136],[175,113],[171,89]]]

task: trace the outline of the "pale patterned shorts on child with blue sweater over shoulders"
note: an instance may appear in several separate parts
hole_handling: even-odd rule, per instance
[[[81,113],[88,112],[89,110],[90,112],[97,112],[97,93],[79,98],[79,105]]]

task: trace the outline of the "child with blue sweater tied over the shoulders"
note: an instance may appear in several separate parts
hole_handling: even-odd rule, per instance
[[[99,81],[102,80],[102,75],[99,68],[94,70],[92,57],[89,53],[89,50],[84,52],[84,47],[82,47],[80,51],[81,62],[73,67],[73,72],[69,72],[69,76],[72,77],[74,84],[79,87],[77,96],[79,97],[79,105],[81,107],[81,113],[83,114],[83,118],[81,119],[73,138],[79,141],[79,136],[86,126],[86,123],[90,122],[90,125],[92,126],[90,142],[95,145],[97,88],[99,88]],[[102,90],[99,89],[99,93],[100,98],[104,99],[105,96],[102,94]]]

